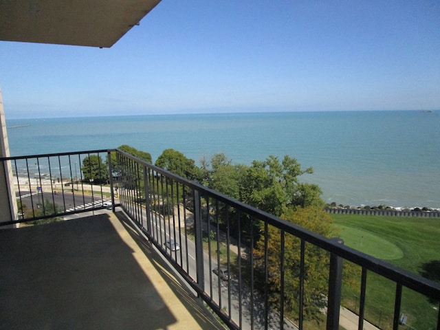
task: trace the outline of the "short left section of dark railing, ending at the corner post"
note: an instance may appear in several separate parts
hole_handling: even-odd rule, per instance
[[[56,221],[114,204],[107,150],[2,158],[10,162],[18,213],[1,225]],[[86,162],[85,162],[86,159]],[[3,166],[6,168],[6,166]]]

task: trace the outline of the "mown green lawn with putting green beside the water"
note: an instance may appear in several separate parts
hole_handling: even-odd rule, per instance
[[[440,219],[331,214],[335,234],[351,248],[419,274],[424,263],[440,261]],[[344,302],[358,309],[359,289],[344,286]],[[395,285],[369,272],[366,318],[392,329]],[[413,329],[437,329],[439,305],[404,289],[401,311]],[[402,327],[402,329],[405,329]],[[408,328],[409,329],[409,328]]]

